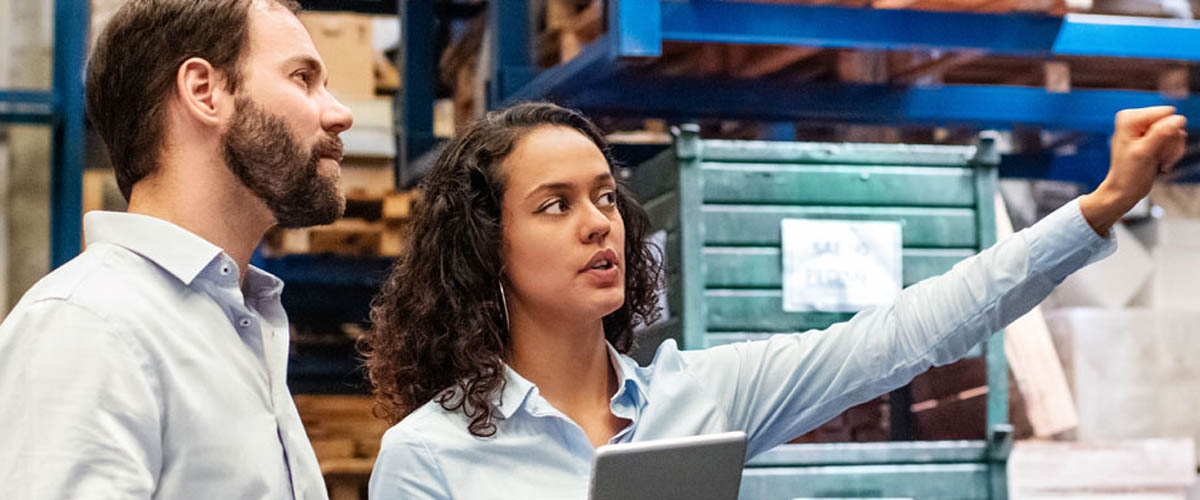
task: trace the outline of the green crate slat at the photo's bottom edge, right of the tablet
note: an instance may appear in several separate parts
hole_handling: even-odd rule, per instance
[[[754,468],[742,472],[738,500],[797,498],[990,499],[985,463]]]

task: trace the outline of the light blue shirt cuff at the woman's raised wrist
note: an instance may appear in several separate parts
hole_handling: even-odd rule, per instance
[[[1109,231],[1108,237],[1097,234],[1084,218],[1079,198],[1021,233],[1027,233],[1031,270],[1045,272],[1056,282],[1117,248],[1116,231]]]

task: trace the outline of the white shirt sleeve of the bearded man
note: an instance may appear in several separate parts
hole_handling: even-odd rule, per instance
[[[83,307],[55,299],[16,311],[0,326],[6,498],[149,499],[162,456],[149,368],[127,335]]]

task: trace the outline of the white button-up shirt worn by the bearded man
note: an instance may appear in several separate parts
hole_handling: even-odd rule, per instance
[[[152,217],[89,212],[88,249],[0,325],[6,499],[325,499],[286,385],[283,283]]]

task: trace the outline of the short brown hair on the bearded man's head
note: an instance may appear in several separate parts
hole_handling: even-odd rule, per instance
[[[167,96],[184,61],[209,61],[238,90],[254,1],[130,0],[108,22],[88,61],[88,119],[108,145],[126,200],[158,167]],[[268,1],[300,10],[295,0]]]

